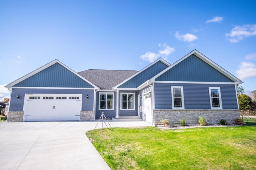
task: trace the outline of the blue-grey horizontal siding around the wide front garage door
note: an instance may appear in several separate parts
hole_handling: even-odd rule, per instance
[[[16,95],[20,98],[17,98]],[[9,111],[23,111],[25,94],[82,94],[82,110],[92,111],[94,103],[94,89],[36,89],[12,88]],[[86,98],[86,95],[89,97]],[[67,106],[72,107],[72,106]]]

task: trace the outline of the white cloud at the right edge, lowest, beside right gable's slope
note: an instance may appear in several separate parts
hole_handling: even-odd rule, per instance
[[[240,63],[239,70],[236,71],[239,79],[256,78],[256,65],[251,62]]]

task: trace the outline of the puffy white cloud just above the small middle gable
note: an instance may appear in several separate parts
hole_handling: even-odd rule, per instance
[[[164,47],[163,50],[158,50],[158,53],[153,53],[148,51],[147,53],[145,53],[144,55],[140,56],[140,59],[144,60],[144,61],[149,61],[150,63],[152,63],[153,61],[155,61],[157,58],[162,57],[163,59],[167,59],[167,56],[169,56],[170,54],[172,54],[175,49],[163,44],[161,45],[160,43],[158,44],[159,47]]]

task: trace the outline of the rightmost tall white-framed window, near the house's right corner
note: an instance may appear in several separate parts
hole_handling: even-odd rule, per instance
[[[222,109],[219,87],[209,87],[211,109]]]

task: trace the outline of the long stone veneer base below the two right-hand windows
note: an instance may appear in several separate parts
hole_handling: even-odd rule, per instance
[[[186,125],[198,124],[199,116],[205,117],[207,124],[220,124],[220,119],[226,119],[227,123],[234,123],[234,119],[240,118],[237,109],[222,110],[154,110],[155,125],[160,125],[162,119],[169,119],[170,125],[179,125],[180,119],[184,119]]]

